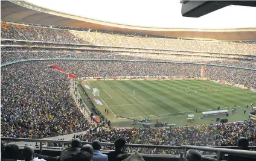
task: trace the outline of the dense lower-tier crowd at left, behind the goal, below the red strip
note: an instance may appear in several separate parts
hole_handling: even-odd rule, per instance
[[[69,79],[46,62],[1,68],[1,137],[40,138],[88,129]]]

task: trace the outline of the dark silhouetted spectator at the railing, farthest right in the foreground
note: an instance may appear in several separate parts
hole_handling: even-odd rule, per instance
[[[249,146],[248,139],[246,139],[245,137],[240,137],[238,139],[238,150],[249,150],[248,146]],[[242,161],[242,160],[255,161],[256,159],[249,158],[249,157],[228,155],[227,160],[229,160],[229,161]]]

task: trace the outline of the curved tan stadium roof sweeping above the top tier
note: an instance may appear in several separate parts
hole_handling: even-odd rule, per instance
[[[28,24],[63,27],[93,28],[96,30],[123,31],[204,40],[256,40],[256,28],[194,29],[153,28],[97,21],[87,17],[39,7],[25,1],[1,1],[1,20]]]

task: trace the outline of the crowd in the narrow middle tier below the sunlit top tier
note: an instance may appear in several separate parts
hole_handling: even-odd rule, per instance
[[[62,49],[1,49],[1,63],[13,62],[23,59],[34,58],[88,58],[88,59],[110,59],[110,60],[146,60],[164,62],[205,63],[213,65],[236,66],[241,68],[252,68],[256,66],[255,61],[229,60],[228,58],[203,57],[191,55],[172,54],[144,54],[132,52],[107,52],[107,51],[63,51]]]

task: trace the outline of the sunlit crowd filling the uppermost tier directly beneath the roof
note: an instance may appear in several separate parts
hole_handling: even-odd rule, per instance
[[[1,38],[43,42],[80,43],[92,45],[130,46],[137,48],[175,49],[200,52],[254,54],[255,42],[209,42],[154,37],[120,36],[112,33],[61,30],[1,22]]]

